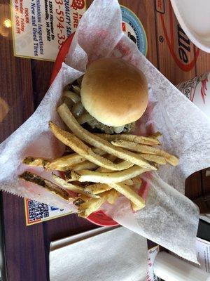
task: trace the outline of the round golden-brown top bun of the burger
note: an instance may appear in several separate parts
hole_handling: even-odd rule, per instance
[[[137,121],[148,104],[148,84],[143,72],[118,58],[95,60],[81,85],[85,110],[108,126]]]

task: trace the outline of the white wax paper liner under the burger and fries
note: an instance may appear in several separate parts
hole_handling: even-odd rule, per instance
[[[72,204],[47,190],[19,181],[18,174],[27,169],[20,162],[28,155],[61,155],[62,145],[58,145],[50,133],[48,122],[61,123],[55,107],[60,102],[63,87],[80,77],[92,60],[105,56],[124,58],[144,72],[151,87],[149,100],[153,110],[147,120],[146,117],[142,119],[145,126],[153,124],[163,133],[162,147],[177,155],[180,164],[177,167],[162,166],[159,176],[154,174],[144,210],[133,215],[126,198],[120,197],[116,209],[110,210],[107,205],[105,211],[124,226],[197,262],[195,236],[198,210],[176,190],[184,193],[186,178],[210,165],[209,120],[141,55],[137,46],[121,31],[121,21],[120,6],[116,0],[95,0],[83,15],[66,58],[67,65],[63,64],[34,115],[0,146],[1,189],[74,210]],[[50,178],[50,174],[35,170]]]

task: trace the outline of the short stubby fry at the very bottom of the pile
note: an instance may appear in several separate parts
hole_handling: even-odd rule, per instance
[[[92,212],[97,211],[102,204],[106,201],[113,202],[116,200],[116,191],[115,190],[109,190],[106,192],[103,192],[100,195],[99,199],[90,199],[89,201],[80,204],[78,206],[78,216],[82,216],[83,218],[87,218],[87,216],[90,216]]]

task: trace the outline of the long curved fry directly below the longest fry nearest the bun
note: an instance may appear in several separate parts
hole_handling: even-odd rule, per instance
[[[85,145],[83,141],[80,141],[79,138],[73,136],[72,133],[62,130],[61,128],[59,128],[59,126],[53,124],[52,122],[50,122],[50,130],[52,131],[52,133],[54,133],[55,137],[59,139],[59,141],[62,141],[62,143],[68,145],[79,155],[83,156],[90,162],[97,164],[98,166],[103,166],[106,169],[116,171],[121,171],[130,168],[130,166],[133,166],[132,163],[126,161],[119,164],[114,164],[113,162],[109,161],[109,159],[97,155],[91,148]]]

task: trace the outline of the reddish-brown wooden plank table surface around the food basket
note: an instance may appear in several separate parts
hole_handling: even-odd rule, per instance
[[[87,1],[87,6],[90,2]],[[120,4],[141,20],[148,39],[147,58],[172,83],[210,70],[210,54],[197,50],[187,37],[186,62],[179,58],[180,30],[169,0],[122,0]],[[10,18],[8,0],[0,1],[0,18],[1,15]],[[48,89],[53,63],[15,58],[10,30],[7,36],[0,32],[0,50],[0,96],[9,106],[2,117],[0,105],[0,141],[3,141],[36,110]],[[186,195],[191,199],[207,192],[210,181],[205,171],[196,172],[186,181]],[[10,281],[48,280],[50,241],[97,227],[74,214],[27,227],[24,200],[6,192],[1,193],[1,216],[6,275]]]

